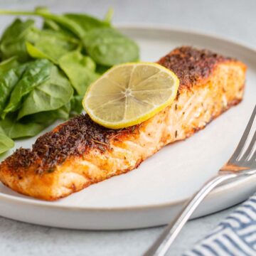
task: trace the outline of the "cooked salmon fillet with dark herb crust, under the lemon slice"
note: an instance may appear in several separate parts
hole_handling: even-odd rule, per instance
[[[27,196],[53,201],[139,166],[166,144],[186,139],[242,100],[245,64],[191,47],[158,61],[180,80],[176,100],[142,124],[112,130],[80,114],[18,149],[0,180]]]

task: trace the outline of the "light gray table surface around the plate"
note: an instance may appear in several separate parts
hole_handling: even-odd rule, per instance
[[[33,9],[49,6],[55,12],[78,11],[103,16],[114,7],[114,23],[156,23],[202,31],[256,46],[254,0],[1,0],[1,9]],[[0,29],[11,21],[0,17]],[[169,255],[181,255],[203,238],[233,208],[191,220],[171,247]],[[47,228],[0,217],[0,255],[142,255],[163,228],[124,231],[82,231]]]

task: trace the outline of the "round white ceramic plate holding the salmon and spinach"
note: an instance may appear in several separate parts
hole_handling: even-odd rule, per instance
[[[0,215],[40,225],[92,230],[162,225],[169,223],[183,201],[217,174],[232,154],[255,105],[256,51],[213,36],[168,28],[122,26],[121,30],[139,43],[145,61],[156,61],[183,45],[242,60],[248,65],[244,100],[190,139],[161,149],[138,169],[60,201],[28,198],[0,185]],[[16,142],[16,148],[30,147],[34,140]],[[255,191],[255,182],[254,176],[220,186],[193,217],[240,203]]]

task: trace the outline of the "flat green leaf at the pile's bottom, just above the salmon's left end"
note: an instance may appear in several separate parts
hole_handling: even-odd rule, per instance
[[[1,120],[0,126],[11,139],[36,136],[46,127],[45,124],[37,124],[35,122],[18,122],[10,117]]]

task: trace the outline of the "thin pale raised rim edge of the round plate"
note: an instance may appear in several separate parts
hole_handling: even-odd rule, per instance
[[[157,23],[117,23],[114,24],[116,28],[119,29],[130,29],[130,30],[157,30],[157,31],[166,31],[166,32],[173,32],[173,33],[187,33],[196,36],[206,37],[208,39],[218,40],[222,41],[224,43],[231,44],[236,47],[243,48],[244,50],[249,50],[252,52],[253,55],[256,56],[256,47],[249,46],[246,43],[242,43],[237,40],[225,38],[223,36],[219,36],[214,33],[205,33],[203,31],[197,31],[197,30],[188,30],[186,28],[178,28],[175,26],[169,26],[166,24],[157,24]],[[222,193],[222,191],[228,190],[232,188],[233,186],[244,186],[247,182],[249,182],[252,178],[256,177],[256,174],[250,177],[245,178],[239,178],[237,181],[231,181],[229,183],[226,183],[222,186],[219,186],[215,188],[213,191],[211,191],[208,195],[208,198],[212,198],[218,193]],[[9,188],[11,189],[11,188]],[[78,191],[79,192],[79,191]],[[191,195],[192,196],[192,195]],[[171,207],[175,205],[179,205],[181,203],[184,203],[188,200],[188,198],[183,198],[177,201],[172,202],[166,202],[166,203],[151,203],[149,205],[143,205],[143,206],[122,206],[122,207],[81,207],[81,206],[60,206],[53,204],[54,201],[43,201],[37,198],[19,198],[18,196],[13,195],[7,195],[5,193],[0,193],[0,200],[1,201],[9,201],[10,203],[19,203],[19,204],[28,204],[30,206],[36,206],[36,207],[44,207],[44,208],[51,208],[51,209],[58,209],[58,210],[83,210],[83,211],[125,211],[125,210],[150,210],[155,208],[166,208]]]

